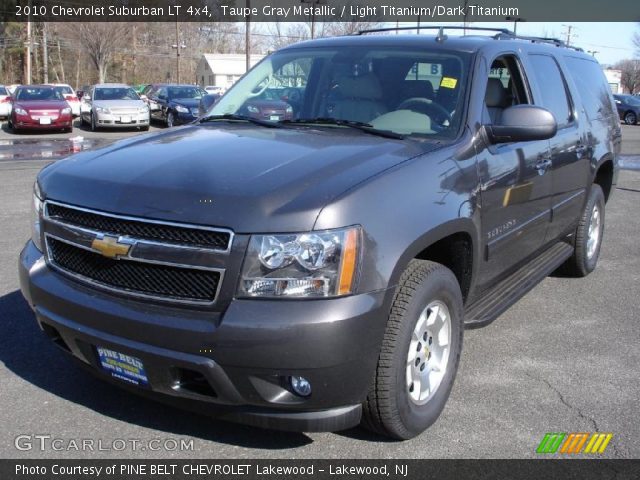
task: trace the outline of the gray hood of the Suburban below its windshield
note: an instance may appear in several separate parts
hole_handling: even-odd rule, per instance
[[[48,199],[112,213],[304,231],[336,196],[435,148],[347,129],[189,125],[79,153],[39,182]]]

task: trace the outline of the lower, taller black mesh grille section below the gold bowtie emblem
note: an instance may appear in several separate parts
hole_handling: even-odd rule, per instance
[[[60,269],[126,292],[193,302],[213,302],[220,273],[129,260],[113,260],[47,237],[49,257]]]

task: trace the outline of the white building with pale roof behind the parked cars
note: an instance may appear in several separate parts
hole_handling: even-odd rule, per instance
[[[251,55],[251,66],[254,66],[264,55]],[[201,87],[216,86],[227,89],[246,72],[244,54],[205,53],[196,68],[196,83]]]

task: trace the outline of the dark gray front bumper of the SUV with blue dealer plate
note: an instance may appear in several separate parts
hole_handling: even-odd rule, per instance
[[[232,300],[224,312],[167,308],[68,279],[46,265],[32,242],[20,256],[20,283],[45,333],[105,380],[223,420],[283,430],[359,423],[388,312],[384,291]],[[105,373],[97,346],[141,359],[148,388]],[[291,375],[309,379],[310,397],[293,393]]]

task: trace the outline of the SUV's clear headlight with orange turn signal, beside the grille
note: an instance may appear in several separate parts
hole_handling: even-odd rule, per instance
[[[243,297],[335,297],[353,293],[360,227],[253,235],[240,279]]]

